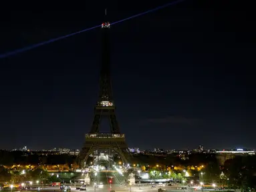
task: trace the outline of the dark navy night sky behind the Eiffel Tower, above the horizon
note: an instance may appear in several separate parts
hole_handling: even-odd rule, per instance
[[[114,22],[166,2],[5,11],[0,53],[100,25],[105,7]],[[129,147],[256,147],[255,29],[238,2],[187,0],[112,26],[113,95]],[[1,149],[82,148],[98,99],[100,33],[0,59]]]

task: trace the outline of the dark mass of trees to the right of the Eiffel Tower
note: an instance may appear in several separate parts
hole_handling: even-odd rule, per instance
[[[137,155],[136,158],[140,159],[142,156]],[[151,173],[153,171],[152,167],[156,166],[156,163],[159,164],[163,172],[171,167],[171,172],[174,175],[178,175],[178,173],[182,175],[182,170],[175,171],[174,167],[184,167],[184,169],[193,167],[188,171],[192,177],[186,177],[193,181],[203,181],[203,183],[209,185],[216,183],[243,190],[256,187],[256,155],[237,156],[225,161],[223,166],[219,165],[219,161],[214,154],[192,154],[186,160],[180,160],[174,155],[168,157],[144,155],[141,159],[142,161],[138,161],[138,164],[145,165],[141,167],[145,167],[144,170],[151,171]],[[204,167],[198,171],[199,169],[195,169],[195,165],[204,165]],[[155,177],[154,174],[150,175],[152,178]],[[160,177],[160,175],[156,175],[156,177]],[[162,175],[161,177],[168,177],[168,175]]]

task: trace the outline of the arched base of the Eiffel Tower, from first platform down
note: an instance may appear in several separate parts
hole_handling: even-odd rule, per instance
[[[89,155],[98,149],[112,149],[120,155],[123,163],[128,164],[130,161],[130,153],[128,152],[124,134],[86,134],[86,142],[79,157],[81,168],[86,167]]]

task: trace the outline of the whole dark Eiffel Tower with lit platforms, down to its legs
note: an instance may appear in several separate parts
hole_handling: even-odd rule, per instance
[[[125,135],[120,133],[116,119],[116,106],[112,97],[110,78],[110,23],[102,23],[102,66],[100,71],[100,94],[94,107],[94,121],[91,131],[86,134],[86,142],[80,152],[81,167],[86,167],[86,161],[90,154],[98,149],[110,149],[120,155],[124,163],[128,163],[130,153],[126,145]],[[108,118],[110,121],[110,133],[100,133],[100,121]]]

